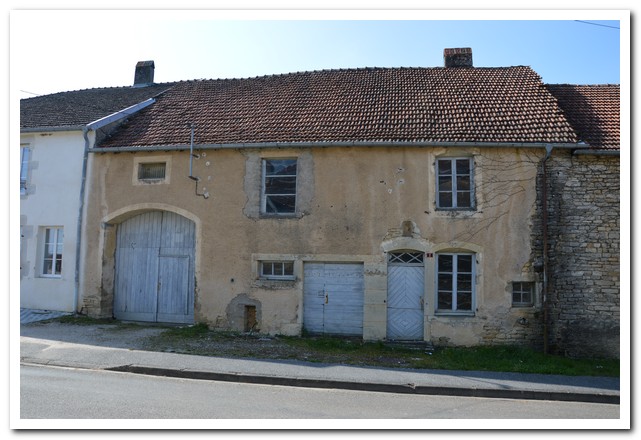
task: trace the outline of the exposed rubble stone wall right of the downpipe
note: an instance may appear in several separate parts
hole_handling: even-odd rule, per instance
[[[618,358],[619,157],[555,152],[548,170],[550,345]]]

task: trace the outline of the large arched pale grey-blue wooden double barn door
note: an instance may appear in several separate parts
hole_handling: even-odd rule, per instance
[[[125,220],[116,238],[114,316],[194,322],[195,224],[168,211]]]

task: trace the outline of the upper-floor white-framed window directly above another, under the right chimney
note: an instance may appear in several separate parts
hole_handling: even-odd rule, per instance
[[[436,161],[436,207],[474,208],[473,160],[470,157]]]

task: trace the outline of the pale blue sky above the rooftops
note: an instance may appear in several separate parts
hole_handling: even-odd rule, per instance
[[[625,31],[627,14],[614,11],[12,11],[10,81],[26,98],[128,86],[141,60],[154,60],[155,81],[168,82],[440,67],[444,48],[471,47],[478,67],[527,65],[546,83],[618,84],[629,62],[621,17]]]

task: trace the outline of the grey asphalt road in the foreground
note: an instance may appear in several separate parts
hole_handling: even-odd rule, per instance
[[[20,380],[21,419],[617,419],[620,413],[619,405],[294,388],[39,365],[22,365]]]

